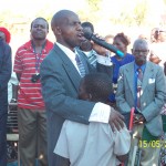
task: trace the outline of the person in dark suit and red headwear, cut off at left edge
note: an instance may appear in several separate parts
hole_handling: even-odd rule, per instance
[[[7,166],[8,82],[11,76],[10,38],[4,32],[0,30],[0,166]]]

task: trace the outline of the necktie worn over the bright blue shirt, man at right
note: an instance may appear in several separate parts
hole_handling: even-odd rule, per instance
[[[142,82],[143,82],[143,71],[137,69],[137,107],[141,107],[141,95],[142,95]]]

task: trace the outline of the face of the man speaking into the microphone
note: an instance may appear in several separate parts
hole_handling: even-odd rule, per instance
[[[68,17],[63,18],[61,24],[53,28],[53,31],[58,35],[58,42],[71,50],[75,46],[80,46],[81,42],[85,40],[80,19],[74,13],[70,13]]]

